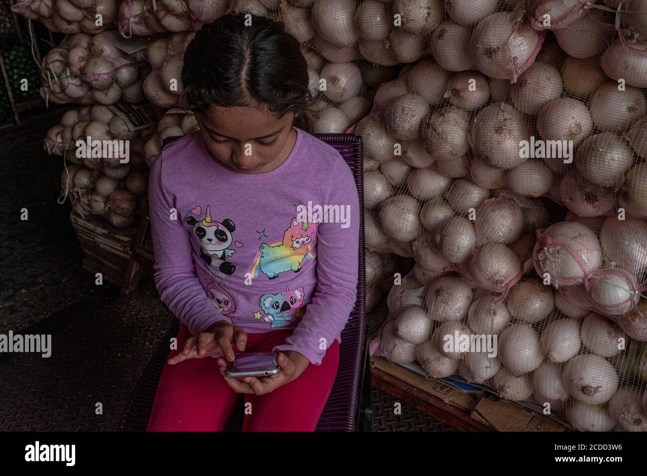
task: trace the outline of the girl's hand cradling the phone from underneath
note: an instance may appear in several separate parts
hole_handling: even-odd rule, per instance
[[[298,376],[303,373],[310,361],[307,357],[303,356],[295,350],[288,350],[287,352],[279,352],[276,356],[276,361],[281,366],[281,372],[278,374],[270,375],[267,377],[237,377],[228,378],[225,376],[227,369],[227,362],[225,359],[217,359],[220,367],[220,374],[225,378],[226,383],[238,393],[253,393],[255,395],[263,395],[269,393],[296,380]]]

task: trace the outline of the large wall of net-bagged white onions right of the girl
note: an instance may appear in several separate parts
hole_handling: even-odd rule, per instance
[[[366,245],[415,260],[371,350],[647,430],[647,2],[432,1],[426,30],[413,4],[356,9],[402,65],[355,128]]]

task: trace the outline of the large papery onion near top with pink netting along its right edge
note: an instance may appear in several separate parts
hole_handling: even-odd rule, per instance
[[[539,45],[539,34],[525,21],[525,12],[496,12],[481,21],[472,32],[472,61],[490,78],[516,81]]]

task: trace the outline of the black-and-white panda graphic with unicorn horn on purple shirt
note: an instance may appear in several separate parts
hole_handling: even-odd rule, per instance
[[[204,220],[195,220],[192,216],[186,219],[186,223],[193,227],[193,235],[200,245],[200,256],[211,266],[217,267],[226,275],[234,274],[236,266],[227,262],[226,258],[234,254],[235,250],[229,249],[232,244],[232,233],[236,230],[234,221],[225,218],[222,222],[211,219],[210,206],[206,206]]]

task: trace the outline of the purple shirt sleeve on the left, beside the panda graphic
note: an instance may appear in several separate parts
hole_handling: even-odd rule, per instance
[[[231,323],[231,319],[214,307],[195,275],[190,234],[182,226],[179,212],[174,209],[175,204],[162,180],[162,155],[151,167],[148,201],[155,251],[155,285],[162,302],[193,335],[217,321]]]

